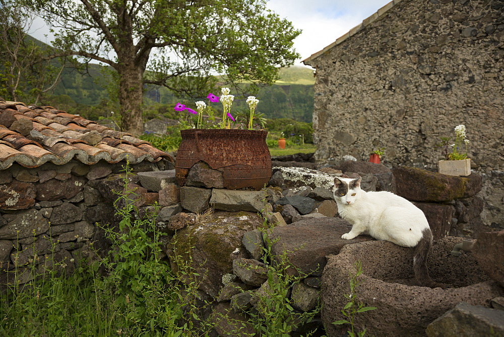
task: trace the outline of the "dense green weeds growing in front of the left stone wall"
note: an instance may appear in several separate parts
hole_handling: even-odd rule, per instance
[[[124,182],[127,188],[127,177]],[[102,257],[93,254],[97,258],[82,259],[74,273],[59,272],[74,261],[57,261],[58,242],[53,241],[51,253],[45,257],[33,252],[28,264],[2,270],[9,277],[1,285],[0,335],[205,334],[210,327],[195,327],[195,319],[179,324],[184,315],[197,317],[199,285],[182,285],[173,275],[169,263],[161,258],[160,233],[152,216],[138,217],[133,196],[129,190],[121,193],[116,201],[122,206],[116,207],[121,220],[116,227],[102,227],[112,249]],[[177,261],[181,263],[178,275],[194,278],[191,261]],[[22,284],[21,277],[29,282]]]

